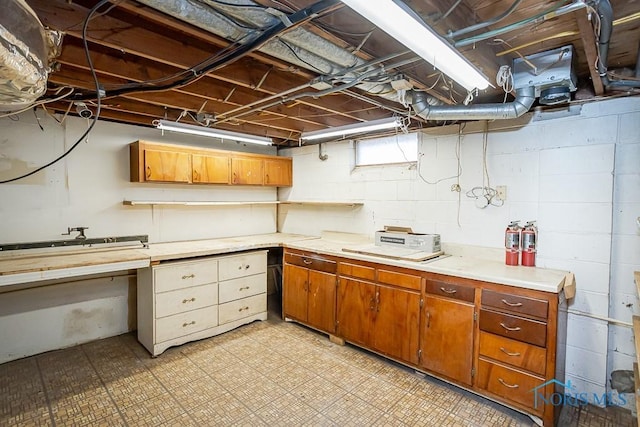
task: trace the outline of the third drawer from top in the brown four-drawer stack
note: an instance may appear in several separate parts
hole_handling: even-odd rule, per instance
[[[488,332],[480,332],[480,355],[540,375],[545,374],[547,367],[544,348]]]

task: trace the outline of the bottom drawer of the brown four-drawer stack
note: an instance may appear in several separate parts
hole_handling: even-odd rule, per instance
[[[517,402],[538,413],[544,411],[544,402],[538,398],[538,407],[535,408],[536,394],[532,390],[543,383],[542,378],[484,359],[480,359],[478,363],[477,385],[479,388]]]

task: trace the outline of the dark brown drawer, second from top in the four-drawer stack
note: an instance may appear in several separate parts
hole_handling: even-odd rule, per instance
[[[480,330],[540,347],[547,343],[546,323],[486,309],[480,310]]]

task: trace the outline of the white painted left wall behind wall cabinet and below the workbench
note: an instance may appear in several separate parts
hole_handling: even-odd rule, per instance
[[[86,129],[38,111],[0,118],[0,180],[35,169],[68,149]],[[98,122],[66,159],[25,180],[0,184],[0,242],[57,240],[67,227],[88,237],[148,234],[151,242],[206,239],[276,231],[275,206],[123,206],[128,200],[272,201],[274,188],[129,182],[128,144],[138,139],[248,151],[236,143],[180,137],[155,129]],[[250,147],[275,154],[273,147]],[[18,290],[0,289],[0,363],[127,332],[135,301],[130,282],[110,277]],[[15,310],[20,307],[20,310]],[[133,313],[135,315],[135,313]]]

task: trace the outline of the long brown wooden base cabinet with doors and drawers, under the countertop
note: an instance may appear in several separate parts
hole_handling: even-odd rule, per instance
[[[564,381],[561,293],[285,249],[283,307],[334,341],[557,422],[545,402]]]

